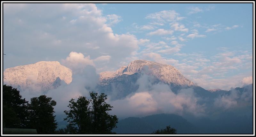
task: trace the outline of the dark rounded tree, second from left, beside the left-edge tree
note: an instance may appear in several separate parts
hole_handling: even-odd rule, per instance
[[[30,99],[28,104],[28,126],[36,128],[38,134],[51,134],[57,128],[55,115],[53,115],[53,106],[56,101],[46,95],[34,97]]]

